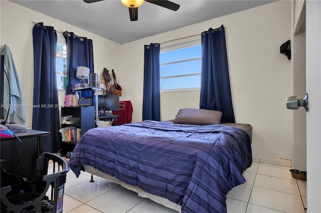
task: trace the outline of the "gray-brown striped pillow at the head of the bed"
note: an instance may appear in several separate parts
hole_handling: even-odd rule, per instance
[[[215,110],[181,109],[174,119],[174,124],[220,124],[221,117],[222,113]]]

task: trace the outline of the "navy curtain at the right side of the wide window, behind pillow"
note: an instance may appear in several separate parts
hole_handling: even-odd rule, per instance
[[[202,33],[200,109],[220,111],[222,123],[235,123],[223,25]]]

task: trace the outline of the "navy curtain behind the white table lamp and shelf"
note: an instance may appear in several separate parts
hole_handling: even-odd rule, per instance
[[[71,32],[64,32],[67,45],[67,78],[66,95],[73,94],[73,84],[79,83],[80,79],[76,77],[78,66],[85,66],[94,72],[94,55],[92,40],[86,37],[76,36]],[[86,81],[88,83],[88,81]],[[92,96],[92,92],[81,92],[82,97]]]

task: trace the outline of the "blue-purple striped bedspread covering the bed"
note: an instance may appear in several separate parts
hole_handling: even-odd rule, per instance
[[[155,121],[91,129],[69,161],[77,177],[90,165],[182,212],[226,212],[226,194],[245,182],[251,164],[250,137],[240,129]]]

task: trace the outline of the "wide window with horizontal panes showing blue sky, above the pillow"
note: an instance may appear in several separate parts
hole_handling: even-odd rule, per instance
[[[201,40],[161,48],[159,80],[161,91],[201,87]]]

